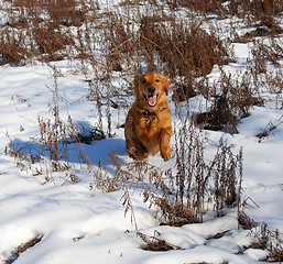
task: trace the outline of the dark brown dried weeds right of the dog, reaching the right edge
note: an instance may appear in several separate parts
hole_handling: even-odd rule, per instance
[[[203,86],[203,95],[213,103],[207,112],[196,114],[202,128],[238,133],[238,121],[249,117],[253,106],[264,106],[266,99],[261,96],[264,89],[275,95],[276,108],[282,106],[282,43],[272,38],[252,44],[253,62],[247,61],[243,73],[231,75],[221,70],[216,82]],[[269,72],[268,65],[275,69]]]

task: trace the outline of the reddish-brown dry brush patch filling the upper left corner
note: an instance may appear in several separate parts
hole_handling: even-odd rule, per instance
[[[19,65],[28,59],[43,62],[68,57],[66,47],[76,37],[68,30],[86,21],[85,1],[7,0],[2,10],[8,22],[1,26],[1,63]]]

